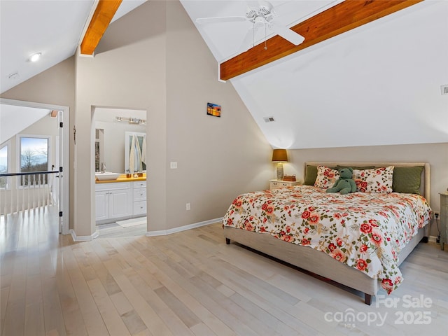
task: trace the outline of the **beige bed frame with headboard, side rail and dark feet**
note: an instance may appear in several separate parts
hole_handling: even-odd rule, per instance
[[[421,173],[421,195],[423,195],[429,203],[430,200],[430,166],[428,163],[407,163],[407,162],[306,162],[307,165],[325,165],[328,167],[336,167],[337,165],[348,167],[415,167],[423,166]],[[306,172],[306,169],[304,169]],[[409,244],[400,251],[398,257],[400,264],[414,247],[423,241],[428,241],[430,225],[419,230],[419,233],[409,241]],[[377,295],[381,288],[378,279],[372,279],[367,274],[349,267],[342,262],[329,258],[329,256],[321,251],[314,250],[307,246],[291,244],[281,239],[276,239],[269,234],[260,234],[239,228],[224,226],[224,237],[226,244],[230,241],[237,241],[239,244],[248,246],[274,258],[288,262],[309,272],[331,279],[344,286],[360,290],[364,293],[364,302],[372,303],[372,296]]]

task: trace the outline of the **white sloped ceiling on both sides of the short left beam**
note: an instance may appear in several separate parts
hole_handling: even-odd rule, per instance
[[[121,1],[111,21],[121,18],[145,1]],[[73,56],[83,41],[98,2],[0,1],[0,92]],[[30,62],[29,57],[36,52],[41,53],[41,59]]]

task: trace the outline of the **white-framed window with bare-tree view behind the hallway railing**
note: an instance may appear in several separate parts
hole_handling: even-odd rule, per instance
[[[48,171],[49,137],[20,137],[20,172],[46,172]],[[38,183],[38,176],[25,176],[20,185],[27,186]],[[43,184],[48,183],[48,175],[43,176]]]

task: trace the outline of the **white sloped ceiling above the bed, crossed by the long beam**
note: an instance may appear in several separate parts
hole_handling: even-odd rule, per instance
[[[441,94],[442,85],[448,84],[447,1],[270,2],[279,15],[276,20],[295,27],[305,40],[303,45],[289,47],[284,47],[288,44],[283,41],[281,48],[289,48],[288,53],[293,53],[269,64],[253,66],[273,58],[269,50],[274,49],[272,54],[281,53],[276,48],[276,41],[281,41],[279,36],[272,38],[268,31],[265,38],[264,29],[259,29],[255,48],[237,55],[250,28],[248,22],[196,27],[221,64],[217,77],[231,78],[272,146],[322,148],[448,142],[448,95]],[[193,22],[196,18],[244,15],[246,7],[241,1],[181,3]],[[337,25],[344,25],[344,20],[336,14],[334,19],[339,22],[332,21],[330,15],[321,25],[307,24],[325,10],[336,13],[335,8],[351,3],[365,7],[372,3],[412,6],[379,15],[377,20],[342,34],[338,34],[341,31]],[[353,27],[356,20],[364,20],[358,14],[350,19],[346,26]],[[315,37],[313,30],[324,31],[328,27],[333,27],[336,34],[326,36],[330,37],[327,39]],[[307,34],[311,41],[307,41]],[[234,60],[239,69],[232,68],[230,76],[223,76],[223,67]],[[245,67],[253,70],[241,71]],[[272,119],[275,121],[265,122]]]

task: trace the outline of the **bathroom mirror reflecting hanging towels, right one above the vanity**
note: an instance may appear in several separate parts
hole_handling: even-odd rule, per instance
[[[146,133],[125,132],[125,172],[146,172]]]

